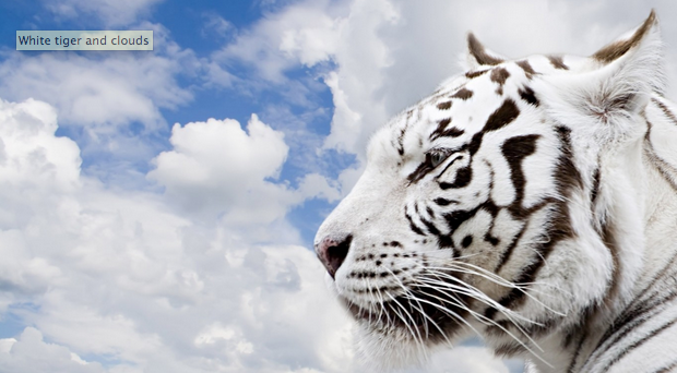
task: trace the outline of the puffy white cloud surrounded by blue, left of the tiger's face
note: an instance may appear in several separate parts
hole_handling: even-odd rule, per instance
[[[304,177],[299,189],[275,182],[288,146],[282,132],[252,115],[247,131],[233,119],[210,119],[171,130],[171,151],[154,159],[149,173],[182,210],[230,226],[270,224],[309,197],[335,201],[337,192],[323,177]]]

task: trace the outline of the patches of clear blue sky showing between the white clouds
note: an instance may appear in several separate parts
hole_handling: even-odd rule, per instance
[[[83,14],[78,16],[55,16],[44,2],[19,2],[10,1],[0,4],[3,12],[2,21],[2,47],[4,50],[14,49],[15,40],[13,33],[16,29],[98,29],[107,23],[102,15]],[[167,1],[150,4],[142,14],[144,20],[162,27],[167,37],[179,48],[189,50],[193,59],[210,59],[224,45],[233,43],[238,34],[247,32],[261,19],[273,15],[284,9],[285,2],[265,3],[261,1],[227,1],[227,2],[181,2]],[[114,23],[115,25],[115,23]],[[114,27],[115,28],[115,27]],[[128,27],[118,27],[124,28]],[[162,41],[159,41],[162,43]],[[157,43],[156,43],[157,44]],[[157,49],[157,48],[156,48]],[[43,52],[28,52],[35,57]],[[52,53],[50,51],[46,53]],[[67,53],[79,53],[75,51]],[[83,58],[106,59],[116,52],[80,52]],[[145,52],[130,52],[143,55]],[[158,52],[162,55],[162,52]],[[144,145],[155,152],[170,148],[168,142],[170,129],[174,123],[188,123],[209,118],[230,118],[246,123],[251,113],[258,113],[259,118],[271,123],[276,130],[285,132],[290,139],[295,133],[302,131],[307,139],[299,140],[292,146],[286,161],[275,182],[285,182],[293,188],[298,186],[300,178],[308,171],[322,171],[336,177],[337,171],[351,166],[355,157],[349,154],[326,152],[322,159],[308,159],[307,147],[321,146],[321,140],[330,131],[333,116],[333,103],[330,88],[322,83],[324,74],[334,69],[332,61],[323,61],[314,67],[289,65],[280,72],[287,82],[297,85],[297,93],[304,97],[287,98],[284,86],[275,83],[261,82],[257,76],[256,68],[249,61],[238,61],[230,58],[224,63],[228,73],[237,80],[237,83],[223,86],[209,86],[205,77],[195,71],[178,71],[176,84],[180,89],[190,94],[189,99],[182,100],[171,107],[161,107],[159,111],[163,125],[153,132],[144,132],[144,124],[139,121],[130,121],[120,132],[130,136],[143,139]],[[90,148],[91,139],[82,132],[82,128],[68,128],[67,122],[60,121],[58,134],[74,140],[81,148],[88,152],[82,154],[82,171],[85,175],[96,173],[96,177],[109,182],[110,186],[120,188],[153,188],[153,183],[143,180],[121,179],[116,173],[117,167],[133,167],[134,170],[145,173],[151,169],[150,159],[130,159],[126,154],[116,152],[102,152],[99,148]],[[318,157],[319,158],[319,157]],[[310,164],[308,163],[310,160]],[[96,165],[96,170],[92,166]],[[110,171],[102,171],[102,165],[108,165]],[[334,166],[336,165],[336,166]],[[333,203],[325,201],[309,200],[295,206],[288,218],[299,229],[302,242],[310,245],[314,231],[321,222],[322,215],[331,209]]]

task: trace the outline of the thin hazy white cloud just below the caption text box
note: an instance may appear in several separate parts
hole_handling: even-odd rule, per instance
[[[94,136],[115,133],[130,122],[155,130],[164,123],[159,108],[174,109],[192,98],[176,82],[179,68],[155,55],[118,52],[97,59],[11,52],[0,64],[0,96],[50,103],[62,121],[86,128]]]

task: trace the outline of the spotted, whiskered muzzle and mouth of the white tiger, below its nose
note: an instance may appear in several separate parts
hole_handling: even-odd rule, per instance
[[[426,268],[432,261],[416,252],[365,254],[357,262],[368,260],[373,269],[352,267],[348,274],[340,272],[335,281],[341,302],[361,325],[381,333],[401,328],[437,341],[462,324],[468,290],[444,285],[449,279],[465,284],[459,274]],[[401,260],[399,267],[394,260]]]

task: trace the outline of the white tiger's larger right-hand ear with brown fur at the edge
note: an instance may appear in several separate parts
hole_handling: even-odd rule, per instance
[[[652,94],[665,89],[663,43],[655,13],[592,55],[586,70],[544,79],[561,99],[555,100],[555,111],[613,124],[604,127],[611,137],[632,132],[632,123],[638,121],[628,119],[641,113]],[[558,108],[560,104],[565,106]]]

